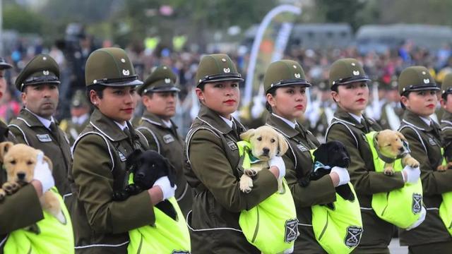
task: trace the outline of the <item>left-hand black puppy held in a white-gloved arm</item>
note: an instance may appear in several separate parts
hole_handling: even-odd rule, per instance
[[[126,200],[130,195],[136,195],[153,187],[157,179],[168,176],[169,183],[174,187],[176,183],[176,170],[168,159],[157,152],[147,150],[134,150],[126,159],[126,169],[133,173],[133,183],[124,187],[121,191],[113,193],[113,200]],[[163,200],[155,205],[172,219],[177,219],[176,210],[168,200]]]

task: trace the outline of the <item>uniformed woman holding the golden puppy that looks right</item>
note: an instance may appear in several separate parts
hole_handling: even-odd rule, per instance
[[[370,79],[356,59],[339,59],[330,69],[331,95],[338,104],[326,131],[326,141],[339,140],[350,153],[350,181],[355,187],[363,223],[363,233],[354,253],[389,253],[394,226],[379,219],[371,208],[374,193],[388,192],[404,185],[400,172],[386,176],[376,172],[364,135],[380,131],[380,126],[362,114],[369,101]]]

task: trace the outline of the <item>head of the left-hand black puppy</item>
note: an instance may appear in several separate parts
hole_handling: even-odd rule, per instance
[[[176,183],[176,169],[158,152],[147,150],[141,153],[136,158],[136,165],[133,182],[143,189],[152,188],[155,181],[162,176],[168,176],[171,186]]]

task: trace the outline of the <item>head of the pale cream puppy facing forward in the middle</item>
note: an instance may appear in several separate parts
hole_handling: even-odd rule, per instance
[[[270,126],[249,129],[240,135],[242,140],[251,144],[251,153],[261,160],[268,160],[275,155],[284,155],[289,149],[283,135]]]

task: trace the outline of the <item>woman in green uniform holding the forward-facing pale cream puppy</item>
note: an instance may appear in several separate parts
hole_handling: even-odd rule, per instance
[[[196,73],[198,116],[186,138],[187,181],[195,188],[193,210],[187,223],[193,253],[260,253],[246,241],[239,215],[277,191],[283,177],[283,159],[254,178],[251,193],[239,190],[237,140],[244,131],[231,114],[239,105],[242,77],[229,56],[203,56]]]

